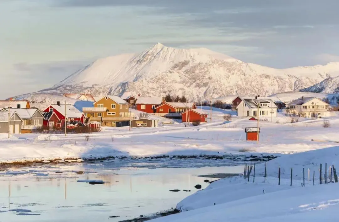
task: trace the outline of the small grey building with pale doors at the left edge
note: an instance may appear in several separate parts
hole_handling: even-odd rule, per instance
[[[11,113],[8,127],[8,112],[0,112],[0,133],[20,134],[23,120],[17,112]]]

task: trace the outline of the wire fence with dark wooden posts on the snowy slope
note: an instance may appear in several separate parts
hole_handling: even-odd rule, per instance
[[[296,169],[278,166],[277,169],[271,169],[270,172],[266,163],[264,168],[262,166],[258,168],[256,163],[245,164],[243,178],[248,182],[264,182],[284,186],[313,186],[338,182],[335,166],[327,163],[319,166],[312,165],[312,168],[298,166]]]

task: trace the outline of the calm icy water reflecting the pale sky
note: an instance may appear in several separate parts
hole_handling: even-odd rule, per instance
[[[214,166],[210,166],[212,163]],[[13,168],[11,170],[24,174],[0,175],[0,221],[116,222],[132,219],[174,208],[180,200],[197,191],[196,184],[205,188],[208,184],[203,180],[206,178],[197,175],[242,172],[243,166],[224,166],[231,164],[235,162],[181,160],[179,164],[126,160]],[[191,168],[183,168],[184,165]],[[207,166],[201,167],[203,165]],[[85,173],[76,174],[79,170]],[[106,183],[90,185],[77,180]],[[171,189],[181,191],[170,192]]]

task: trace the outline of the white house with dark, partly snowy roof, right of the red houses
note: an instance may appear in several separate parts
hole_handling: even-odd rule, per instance
[[[272,99],[243,99],[236,108],[238,116],[257,117],[259,105],[260,117],[277,117],[277,105]]]

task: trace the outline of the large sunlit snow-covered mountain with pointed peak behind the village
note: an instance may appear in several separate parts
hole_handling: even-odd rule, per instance
[[[211,96],[268,96],[296,91],[329,75],[339,75],[339,63],[275,69],[245,63],[206,48],[178,49],[157,43],[140,54],[98,59],[38,94],[164,96],[170,93],[200,101]],[[31,95],[20,98],[29,99]]]

